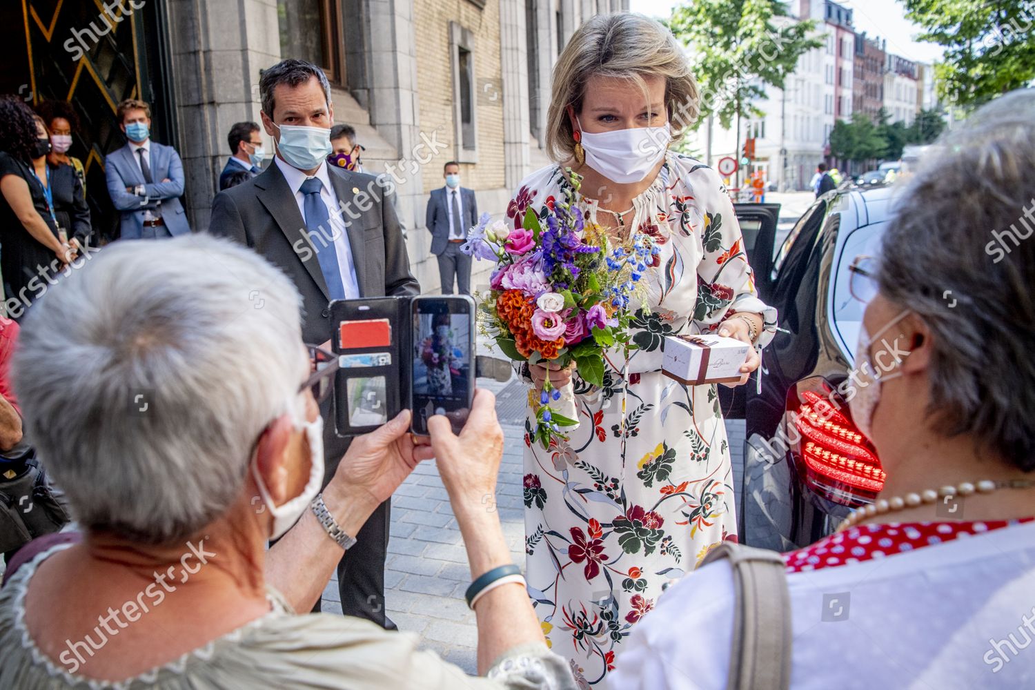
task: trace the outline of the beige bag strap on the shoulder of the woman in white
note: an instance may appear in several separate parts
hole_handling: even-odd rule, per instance
[[[733,648],[728,690],[791,687],[791,595],[776,551],[722,542],[705,563],[729,559],[733,569]]]

